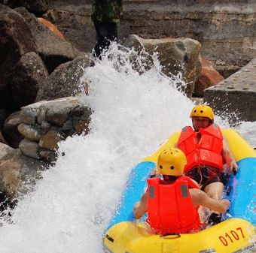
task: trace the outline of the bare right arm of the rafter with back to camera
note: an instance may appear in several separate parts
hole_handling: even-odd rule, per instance
[[[229,200],[214,200],[209,197],[204,191],[192,188],[189,190],[190,196],[194,206],[204,206],[206,208],[212,209],[215,212],[226,212],[230,207]]]

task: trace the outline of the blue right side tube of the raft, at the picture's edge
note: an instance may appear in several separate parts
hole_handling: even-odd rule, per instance
[[[236,176],[231,176],[227,185],[232,185],[230,215],[243,218],[256,225],[256,158],[244,158],[238,163]]]

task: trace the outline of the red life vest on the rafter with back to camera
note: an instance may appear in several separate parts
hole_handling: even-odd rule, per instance
[[[189,188],[198,186],[187,176],[164,185],[160,178],[148,179],[148,219],[160,234],[190,233],[200,230],[198,207],[192,203]]]

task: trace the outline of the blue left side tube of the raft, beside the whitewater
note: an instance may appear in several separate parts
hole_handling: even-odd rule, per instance
[[[130,178],[126,183],[126,188],[122,194],[122,200],[119,206],[117,206],[117,211],[114,217],[111,218],[111,223],[108,225],[108,228],[121,221],[133,221],[135,219],[133,206],[140,200],[140,197],[144,193],[149,173],[155,166],[156,164],[154,162],[143,161],[133,167]]]

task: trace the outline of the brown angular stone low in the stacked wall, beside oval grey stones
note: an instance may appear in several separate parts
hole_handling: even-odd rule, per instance
[[[64,140],[64,138],[59,134],[56,128],[51,128],[50,131],[47,131],[47,134],[44,134],[39,141],[39,146],[44,149],[50,149],[54,151],[58,148],[58,142]]]

